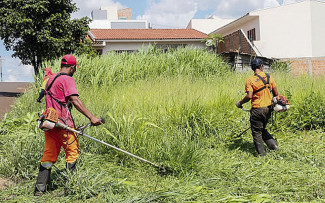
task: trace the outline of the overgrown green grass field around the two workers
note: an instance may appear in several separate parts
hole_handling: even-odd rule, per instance
[[[34,197],[44,145],[36,119],[45,108],[35,102],[37,80],[0,123],[0,178],[12,181],[1,189],[1,201],[325,202],[325,78],[271,73],[292,108],[269,122],[280,150],[257,157],[251,132],[238,137],[249,127],[249,114],[235,106],[252,73],[228,71],[213,53],[192,49],[78,61],[80,98],[106,118],[85,133],[174,173],[160,176],[146,163],[80,137],[77,173],[66,172],[61,152],[50,192]],[[47,66],[57,72],[59,61]],[[77,125],[88,122],[73,113]]]

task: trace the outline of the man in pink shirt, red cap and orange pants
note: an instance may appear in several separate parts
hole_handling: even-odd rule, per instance
[[[76,128],[71,116],[72,105],[84,114],[92,125],[100,125],[102,122],[95,117],[79,99],[75,80],[72,78],[77,70],[76,58],[65,55],[61,60],[61,70],[52,75],[45,87],[46,108],[54,108],[59,115],[59,122]],[[72,105],[69,105],[72,104]],[[78,139],[75,133],[61,128],[53,128],[45,132],[45,149],[41,159],[41,165],[35,186],[35,196],[42,195],[47,191],[50,173],[53,164],[57,161],[60,148],[65,151],[66,166],[70,171],[75,170],[79,155]]]

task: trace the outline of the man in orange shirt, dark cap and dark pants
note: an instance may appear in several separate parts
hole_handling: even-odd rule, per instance
[[[264,66],[261,59],[254,59],[251,62],[251,68],[254,76],[246,80],[246,96],[236,102],[238,108],[243,108],[243,104],[252,100],[252,109],[250,110],[250,123],[254,140],[254,145],[259,155],[265,155],[264,143],[271,150],[277,150],[278,145],[272,135],[266,130],[266,125],[271,117],[272,95],[279,97],[279,93],[273,77],[263,72]]]

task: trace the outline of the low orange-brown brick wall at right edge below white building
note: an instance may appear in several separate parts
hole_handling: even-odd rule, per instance
[[[293,74],[309,74],[325,76],[325,57],[282,59],[290,63]]]

